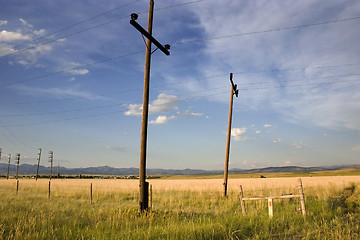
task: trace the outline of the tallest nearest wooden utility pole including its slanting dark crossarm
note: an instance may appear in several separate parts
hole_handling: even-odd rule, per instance
[[[136,13],[131,14],[130,24],[133,25],[146,40],[146,54],[145,54],[145,72],[144,72],[144,97],[143,97],[143,113],[141,123],[141,143],[140,143],[140,168],[139,168],[139,210],[143,212],[149,208],[149,183],[146,182],[146,145],[147,145],[147,126],[148,126],[148,114],[149,114],[149,85],[150,85],[150,62],[151,54],[157,49],[160,49],[164,54],[170,55],[170,45],[161,45],[152,36],[152,24],[153,24],[153,12],[154,12],[154,0],[150,0],[149,3],[149,16],[148,16],[148,29],[147,31],[142,28],[137,22],[138,15]],[[151,44],[154,44],[157,49],[151,52]]]

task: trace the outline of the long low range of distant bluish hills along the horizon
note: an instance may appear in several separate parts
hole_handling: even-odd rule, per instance
[[[0,175],[7,174],[8,165],[0,163]],[[35,175],[37,165],[21,164],[19,167],[19,175]],[[255,169],[230,169],[230,173],[271,173],[271,172],[316,172],[316,171],[329,171],[341,170],[347,168],[360,169],[360,164],[353,165],[334,165],[325,167],[298,167],[298,166],[285,166],[285,167],[266,167]],[[57,173],[62,175],[123,175],[123,176],[136,176],[139,174],[138,168],[113,168],[109,166],[100,167],[86,167],[86,168],[65,168],[53,167],[53,175]],[[15,175],[16,166],[10,165],[10,175]],[[49,174],[50,167],[40,166],[39,174]],[[222,174],[222,170],[201,170],[201,169],[147,169],[148,175],[213,175]]]

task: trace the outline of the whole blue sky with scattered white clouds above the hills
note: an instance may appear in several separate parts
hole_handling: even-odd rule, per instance
[[[1,0],[0,147],[138,167],[147,0]],[[155,1],[148,168],[359,163],[359,1]],[[154,48],[153,48],[154,49]]]

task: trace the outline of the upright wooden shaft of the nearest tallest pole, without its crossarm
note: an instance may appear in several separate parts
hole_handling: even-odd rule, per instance
[[[149,3],[148,29],[147,32],[152,35],[154,1]],[[149,184],[146,182],[146,145],[147,145],[147,128],[149,115],[149,89],[150,89],[150,62],[151,62],[151,41],[146,40],[145,54],[145,73],[144,73],[144,96],[143,96],[143,113],[141,122],[141,143],[140,143],[140,168],[139,168],[139,187],[140,199],[139,210],[143,212],[149,208]]]

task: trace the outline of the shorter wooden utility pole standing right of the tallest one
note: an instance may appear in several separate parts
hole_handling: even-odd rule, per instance
[[[228,183],[228,170],[229,170],[229,155],[230,155],[230,139],[231,139],[231,119],[232,119],[232,105],[233,105],[233,96],[238,97],[239,90],[237,85],[234,84],[232,80],[232,73],[230,73],[230,82],[231,82],[231,93],[230,93],[230,109],[229,109],[229,122],[228,122],[228,132],[227,132],[227,142],[226,142],[226,154],[225,154],[225,169],[224,169],[224,192],[223,196],[227,195],[227,183]]]

